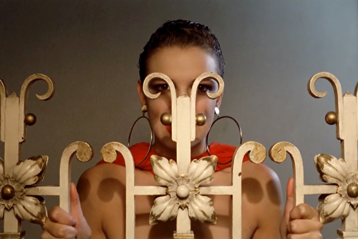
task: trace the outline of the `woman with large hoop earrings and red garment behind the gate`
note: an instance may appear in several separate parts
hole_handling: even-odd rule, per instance
[[[137,90],[141,106],[146,106],[155,143],[151,154],[175,159],[176,144],[171,140],[171,129],[164,126],[160,116],[171,112],[170,91],[165,81],[151,81],[150,90],[161,92],[156,99],[147,98],[142,91],[144,78],[161,72],[174,82],[176,95],[190,95],[193,81],[204,72],[216,72],[223,77],[224,60],[216,37],[207,26],[190,21],[176,20],[163,24],[144,47],[139,59],[140,80]],[[215,108],[219,108],[222,95],[209,99],[207,92],[218,88],[214,80],[204,80],[197,92],[196,113],[207,117],[207,123],[196,127],[191,143],[192,158],[207,156],[205,136],[213,122]],[[131,147],[136,163],[142,161],[149,144]],[[218,161],[228,162],[235,147],[212,144],[210,151]],[[150,156],[149,155],[149,156]],[[149,156],[138,165],[136,185],[156,185]],[[246,161],[242,166],[242,238],[321,238],[322,224],[318,212],[309,205],[293,206],[292,180],[287,185],[287,199],[281,219],[280,182],[276,174],[263,164]],[[55,207],[43,225],[42,238],[125,238],[125,168],[119,155],[115,164],[99,163],[83,173],[78,181],[78,194],[71,186],[71,215]],[[229,185],[231,163],[223,164],[214,173],[211,185]],[[79,195],[79,196],[78,196]],[[195,238],[230,238],[231,210],[229,196],[212,196],[217,214],[217,225],[193,222]],[[216,203],[220,202],[220,203]],[[168,221],[154,226],[148,224],[153,197],[136,197],[137,238],[173,238],[175,223]],[[83,212],[83,213],[82,213]],[[280,224],[281,221],[281,224]]]

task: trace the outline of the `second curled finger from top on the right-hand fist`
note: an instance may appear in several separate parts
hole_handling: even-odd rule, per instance
[[[323,225],[318,220],[296,219],[287,224],[287,233],[304,234],[309,232],[319,232]]]

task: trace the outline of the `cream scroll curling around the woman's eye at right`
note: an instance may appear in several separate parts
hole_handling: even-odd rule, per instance
[[[192,92],[190,95],[190,140],[195,139],[195,106],[196,106],[196,97],[197,97],[197,90],[200,82],[206,78],[212,78],[218,83],[218,90],[216,92],[207,92],[206,94],[210,99],[216,99],[218,98],[223,92],[224,92],[224,81],[217,73],[214,72],[205,72],[198,76],[192,87]]]

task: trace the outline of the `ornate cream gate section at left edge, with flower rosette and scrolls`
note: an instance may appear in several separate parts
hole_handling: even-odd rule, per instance
[[[0,160],[0,219],[4,219],[4,232],[0,238],[20,239],[25,235],[21,231],[21,220],[43,224],[47,210],[39,195],[58,195],[60,206],[69,211],[69,183],[71,171],[69,164],[73,154],[79,161],[92,158],[92,148],[88,143],[75,142],[63,152],[60,164],[59,186],[36,186],[45,176],[47,156],[35,156],[21,161],[21,145],[26,140],[26,125],[36,122],[34,114],[26,114],[26,102],[29,87],[38,80],[48,85],[40,100],[48,100],[54,94],[53,82],[42,74],[29,76],[21,87],[20,97],[15,93],[8,96],[6,86],[0,79],[1,97],[1,141],[5,144],[4,161]],[[35,197],[34,197],[35,196]]]

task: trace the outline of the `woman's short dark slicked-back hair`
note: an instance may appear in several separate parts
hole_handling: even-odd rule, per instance
[[[150,37],[139,56],[139,76],[143,83],[147,76],[147,62],[151,54],[161,47],[200,47],[212,53],[218,63],[218,74],[224,76],[224,58],[220,44],[207,25],[193,21],[175,20],[167,21]]]

